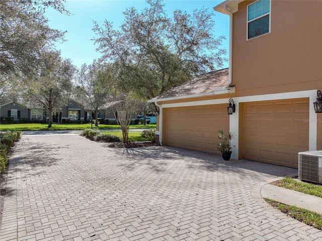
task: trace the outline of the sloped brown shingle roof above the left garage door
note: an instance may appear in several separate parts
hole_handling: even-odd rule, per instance
[[[185,99],[191,97],[231,93],[234,87],[227,87],[229,68],[201,74],[181,86],[154,97],[148,102]]]

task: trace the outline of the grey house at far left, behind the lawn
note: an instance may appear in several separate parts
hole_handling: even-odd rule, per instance
[[[24,107],[21,104],[11,101],[0,106],[0,117],[12,117],[14,122],[21,120],[41,122],[45,120],[45,113],[43,109]]]

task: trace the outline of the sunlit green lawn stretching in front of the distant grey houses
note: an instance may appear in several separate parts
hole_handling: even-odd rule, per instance
[[[52,124],[51,128],[48,128],[48,124],[0,124],[0,130],[20,130],[20,131],[37,131],[37,130],[85,130],[91,128],[91,124]],[[148,125],[130,125],[130,129],[145,129],[155,128],[155,124]],[[99,127],[93,125],[93,129],[120,129],[118,125],[105,125],[100,124]]]

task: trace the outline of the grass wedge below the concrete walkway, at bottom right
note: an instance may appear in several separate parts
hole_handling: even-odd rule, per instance
[[[277,208],[286,215],[301,221],[307,225],[315,227],[319,230],[322,230],[322,214],[317,212],[309,211],[304,208],[298,208],[295,206],[289,206],[276,202],[274,200],[265,198],[265,201],[271,204],[273,207]]]

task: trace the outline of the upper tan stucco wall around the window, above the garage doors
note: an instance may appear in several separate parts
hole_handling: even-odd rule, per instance
[[[322,1],[272,1],[271,32],[247,40],[247,6],[233,14],[236,96],[322,89]]]

